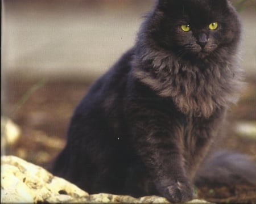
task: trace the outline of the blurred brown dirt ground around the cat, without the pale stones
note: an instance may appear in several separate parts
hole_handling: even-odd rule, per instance
[[[39,80],[24,80],[10,75],[7,79],[7,103],[2,113],[11,112],[24,94],[35,88]],[[250,155],[256,160],[256,140],[240,137],[234,130],[238,121],[256,121],[256,78],[247,77],[246,90],[238,105],[229,112],[227,138],[222,146]],[[19,141],[7,154],[16,155],[45,168],[65,145],[65,135],[73,109],[88,90],[90,82],[77,80],[47,81],[38,88],[11,118],[22,130]],[[255,169],[256,171],[256,169]],[[199,198],[217,203],[256,203],[256,186],[240,185],[232,189],[197,189]]]

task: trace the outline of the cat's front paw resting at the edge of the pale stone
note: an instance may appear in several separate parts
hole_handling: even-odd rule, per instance
[[[171,202],[191,201],[193,189],[188,182],[176,181],[174,184],[163,189],[163,196]]]

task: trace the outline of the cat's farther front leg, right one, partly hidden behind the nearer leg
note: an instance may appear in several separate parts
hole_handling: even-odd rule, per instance
[[[217,109],[209,118],[192,117],[184,134],[184,151],[188,177],[193,180],[197,169],[208,155],[213,143],[224,134],[226,108]]]

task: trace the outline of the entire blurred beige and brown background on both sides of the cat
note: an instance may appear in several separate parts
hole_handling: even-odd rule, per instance
[[[247,86],[240,103],[230,108],[223,144],[256,159],[256,1],[232,2],[243,23]],[[13,136],[1,137],[2,154],[48,167],[65,145],[73,109],[93,80],[133,46],[143,15],[153,4],[3,0],[1,135],[8,131]]]

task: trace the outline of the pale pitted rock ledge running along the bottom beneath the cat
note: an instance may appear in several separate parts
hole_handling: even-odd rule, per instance
[[[133,198],[84,192],[46,169],[16,156],[1,156],[1,203],[169,203],[166,198]],[[188,203],[207,203],[195,200]]]

